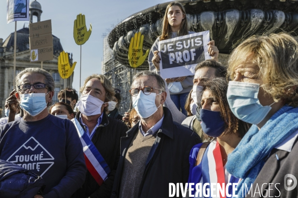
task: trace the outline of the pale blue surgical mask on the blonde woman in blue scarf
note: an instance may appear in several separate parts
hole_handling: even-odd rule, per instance
[[[233,114],[240,120],[259,124],[271,110],[271,105],[263,106],[258,99],[260,85],[230,81],[227,101]]]

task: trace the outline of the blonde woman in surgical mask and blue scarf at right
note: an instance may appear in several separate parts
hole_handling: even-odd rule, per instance
[[[232,52],[228,71],[229,106],[253,124],[226,163],[242,179],[238,197],[297,197],[298,40],[285,33],[249,38]]]

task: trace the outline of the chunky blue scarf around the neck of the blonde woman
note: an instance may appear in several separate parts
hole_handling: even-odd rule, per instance
[[[255,181],[271,150],[297,130],[298,108],[289,105],[279,109],[260,130],[252,125],[228,155],[225,165],[231,175],[242,178],[237,188],[238,198],[242,197],[242,185],[250,188]]]

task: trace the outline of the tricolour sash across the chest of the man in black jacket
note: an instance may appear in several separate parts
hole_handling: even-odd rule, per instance
[[[108,164],[94,146],[84,129],[81,127],[76,118],[72,119],[79,139],[83,146],[85,162],[88,171],[91,173],[97,184],[100,186],[111,172]]]

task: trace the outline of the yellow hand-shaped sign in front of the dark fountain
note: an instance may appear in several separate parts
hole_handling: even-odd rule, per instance
[[[139,67],[148,56],[149,49],[147,49],[145,55],[143,55],[143,41],[144,35],[141,35],[141,32],[136,33],[135,37],[131,40],[128,50],[128,61],[131,67]]]

